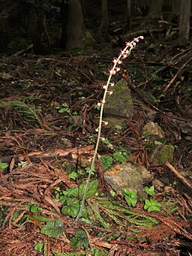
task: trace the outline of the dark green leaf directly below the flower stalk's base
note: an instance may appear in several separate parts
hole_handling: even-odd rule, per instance
[[[71,248],[77,249],[81,246],[88,247],[89,239],[86,236],[86,232],[81,228],[75,234],[75,237],[71,239]]]

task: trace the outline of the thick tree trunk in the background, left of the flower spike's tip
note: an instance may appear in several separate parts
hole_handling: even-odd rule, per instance
[[[68,1],[66,32],[66,47],[73,48],[81,43],[84,34],[83,11],[80,0]],[[65,34],[66,33],[66,34]]]

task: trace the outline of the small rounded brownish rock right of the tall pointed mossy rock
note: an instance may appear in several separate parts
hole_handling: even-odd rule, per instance
[[[154,140],[165,140],[165,134],[157,122],[148,122],[143,128],[142,131],[143,137],[146,139],[150,139],[151,141]]]

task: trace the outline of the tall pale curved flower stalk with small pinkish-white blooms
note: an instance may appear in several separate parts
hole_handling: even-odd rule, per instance
[[[101,106],[101,110],[100,110],[100,119],[99,119],[99,126],[98,128],[96,129],[96,131],[98,131],[98,139],[97,139],[97,142],[96,142],[96,145],[95,145],[95,152],[94,152],[94,155],[93,155],[93,158],[92,158],[92,164],[91,164],[91,168],[89,170],[89,176],[88,176],[88,179],[86,181],[86,189],[85,189],[85,192],[83,194],[83,200],[80,204],[80,210],[78,212],[78,215],[77,217],[75,218],[74,220],[74,225],[77,223],[77,221],[79,220],[81,214],[82,214],[82,211],[83,211],[83,207],[85,205],[85,200],[86,200],[86,194],[87,194],[87,191],[89,189],[89,182],[90,182],[90,179],[91,179],[91,176],[92,176],[92,170],[95,166],[95,160],[96,160],[96,157],[97,157],[97,154],[98,154],[98,146],[99,146],[99,143],[100,143],[100,140],[101,140],[101,128],[102,128],[102,122],[103,121],[103,114],[104,114],[104,104],[106,102],[106,97],[107,97],[107,94],[109,93],[110,95],[112,94],[112,91],[108,91],[108,89],[110,87],[113,87],[114,86],[114,83],[111,83],[111,78],[113,77],[113,75],[115,75],[118,71],[120,71],[120,67],[119,65],[121,65],[123,59],[127,58],[127,56],[130,55],[130,52],[131,50],[133,50],[134,47],[136,47],[136,43],[139,42],[139,39],[143,39],[142,36],[139,36],[138,38],[134,38],[133,41],[130,41],[130,42],[126,42],[126,47],[124,47],[124,50],[121,50],[119,56],[117,59],[113,59],[113,68],[110,69],[110,75],[109,75],[109,78],[107,80],[107,84],[104,87],[104,96],[103,96],[103,99],[101,102],[98,103],[98,106]],[[105,124],[107,125],[107,122],[105,122]]]

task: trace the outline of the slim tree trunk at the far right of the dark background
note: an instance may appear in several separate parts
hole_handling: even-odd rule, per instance
[[[190,0],[181,0],[181,14],[179,23],[179,42],[186,44],[189,40],[190,31]]]

